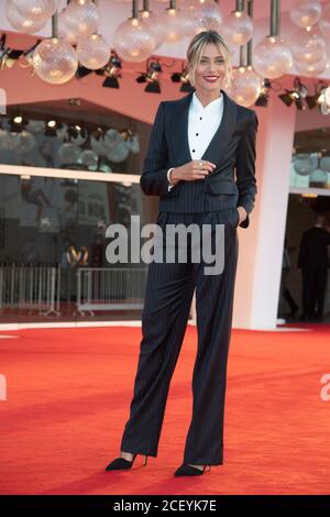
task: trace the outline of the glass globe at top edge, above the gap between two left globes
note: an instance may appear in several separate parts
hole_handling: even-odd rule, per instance
[[[68,31],[77,37],[89,36],[99,30],[99,10],[91,0],[72,0],[64,12]]]

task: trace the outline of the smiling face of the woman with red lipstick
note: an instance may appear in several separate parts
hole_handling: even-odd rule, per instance
[[[195,88],[205,92],[219,91],[224,80],[224,58],[217,45],[208,43],[195,69]]]

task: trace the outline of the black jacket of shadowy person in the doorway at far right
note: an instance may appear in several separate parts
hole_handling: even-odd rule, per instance
[[[328,246],[330,233],[323,228],[309,228],[302,233],[300,241],[298,267],[302,270],[319,270],[329,267]]]

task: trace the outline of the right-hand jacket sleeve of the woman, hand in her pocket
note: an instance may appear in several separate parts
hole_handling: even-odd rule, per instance
[[[249,213],[254,208],[256,195],[255,180],[255,141],[258,120],[255,111],[248,120],[245,133],[241,136],[237,148],[237,186],[239,189],[238,206],[244,207],[248,217],[240,223],[240,227],[248,228],[250,224]]]

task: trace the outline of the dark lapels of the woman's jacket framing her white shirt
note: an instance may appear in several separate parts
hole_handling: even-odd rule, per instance
[[[223,157],[226,157],[226,150],[229,146],[238,119],[238,105],[226,94],[226,91],[221,89],[221,92],[223,95],[222,119],[207,150],[201,156],[201,160],[213,162],[218,167],[221,165]],[[194,160],[190,155],[188,141],[188,114],[193,94],[194,91],[182,99],[177,118],[177,135],[178,142],[182,144],[180,152],[185,153],[187,162]]]

